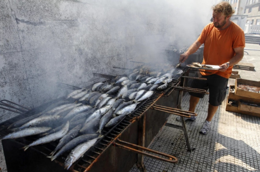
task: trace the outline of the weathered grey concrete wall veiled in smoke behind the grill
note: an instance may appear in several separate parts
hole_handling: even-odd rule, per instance
[[[205,0],[204,11],[193,3],[1,0],[0,100],[33,108],[70,91],[57,81],[83,87],[97,78],[92,72],[112,74],[112,66],[135,65],[129,60],[163,62],[165,47],[190,45],[209,23],[212,3]]]

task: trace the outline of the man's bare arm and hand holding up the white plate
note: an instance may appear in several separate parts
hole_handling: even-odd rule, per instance
[[[229,66],[235,65],[237,64],[239,61],[241,61],[243,59],[244,56],[244,47],[237,47],[234,48],[234,51],[236,53],[236,55],[234,57],[232,57],[232,59],[230,59],[229,61],[227,61],[226,63],[220,65],[220,67],[224,67],[223,69],[219,69],[219,71],[224,72],[226,71],[226,69]],[[228,63],[228,64],[227,64]]]

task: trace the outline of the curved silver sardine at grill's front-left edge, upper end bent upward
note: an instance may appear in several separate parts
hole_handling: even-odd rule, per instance
[[[40,144],[44,144],[44,143],[49,143],[51,141],[55,141],[57,139],[62,138],[63,136],[65,136],[65,134],[67,134],[68,129],[69,129],[69,121],[67,121],[66,125],[58,132],[49,134],[47,136],[44,136],[34,142],[32,142],[31,144],[23,147],[24,151],[26,151],[29,147],[31,146],[35,146],[35,145],[40,145]]]

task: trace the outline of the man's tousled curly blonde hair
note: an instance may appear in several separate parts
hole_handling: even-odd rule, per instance
[[[235,10],[232,9],[231,5],[228,2],[220,2],[217,5],[212,7],[213,14],[218,12],[222,13],[224,16],[232,16],[235,13]]]

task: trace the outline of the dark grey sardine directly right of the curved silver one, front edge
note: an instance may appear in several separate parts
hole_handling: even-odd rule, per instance
[[[58,145],[55,147],[54,151],[51,152],[51,156],[53,156],[55,154],[55,152],[57,152],[57,150],[61,149],[64,145],[66,145],[69,141],[71,141],[72,139],[74,139],[78,134],[79,134],[79,130],[81,129],[81,124],[77,125],[76,127],[74,127],[72,130],[70,130],[65,136],[63,136]]]

